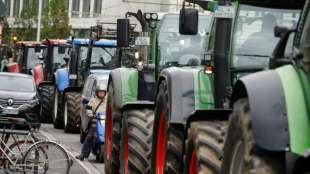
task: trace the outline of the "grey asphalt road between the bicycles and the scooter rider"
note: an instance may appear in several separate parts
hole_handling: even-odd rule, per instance
[[[79,134],[66,134],[61,129],[54,129],[51,124],[43,124],[40,133],[47,139],[62,144],[71,158],[74,159],[70,174],[104,174],[104,164],[96,162],[94,155],[91,155],[89,159],[85,159],[83,162],[74,158],[81,151]]]

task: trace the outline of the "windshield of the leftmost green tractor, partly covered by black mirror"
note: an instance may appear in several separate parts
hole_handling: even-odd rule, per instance
[[[204,59],[206,33],[211,23],[211,16],[199,16],[197,35],[179,34],[179,15],[166,15],[162,19],[158,44],[160,47],[161,66],[200,65]]]

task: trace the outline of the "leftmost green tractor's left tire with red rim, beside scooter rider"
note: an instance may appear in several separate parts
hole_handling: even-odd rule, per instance
[[[114,101],[114,88],[112,82],[108,90],[107,116],[105,122],[105,152],[104,166],[106,174],[118,174],[120,167],[120,138],[122,112],[116,107]]]

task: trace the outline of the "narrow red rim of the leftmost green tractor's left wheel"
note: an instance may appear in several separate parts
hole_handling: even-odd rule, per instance
[[[106,153],[108,160],[111,157],[111,134],[112,134],[112,107],[111,104],[108,104],[106,134],[105,134]]]

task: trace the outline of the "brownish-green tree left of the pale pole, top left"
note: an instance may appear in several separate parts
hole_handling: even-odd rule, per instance
[[[35,40],[36,24],[38,14],[37,0],[24,0],[23,9],[19,17],[15,20],[13,32],[18,40]]]

